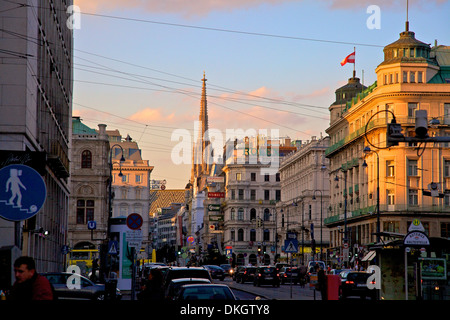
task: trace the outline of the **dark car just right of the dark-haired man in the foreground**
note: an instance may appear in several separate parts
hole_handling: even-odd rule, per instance
[[[85,276],[70,272],[47,272],[42,274],[55,288],[58,299],[105,300],[107,292],[104,284],[94,283]],[[69,288],[70,284],[78,284],[80,288]],[[68,287],[69,284],[69,287]],[[115,289],[114,299],[122,297],[120,290]]]

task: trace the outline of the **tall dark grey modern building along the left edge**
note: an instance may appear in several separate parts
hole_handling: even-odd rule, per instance
[[[2,47],[8,49],[0,56],[0,149],[15,159],[33,159],[27,165],[40,172],[47,197],[26,221],[0,218],[0,247],[15,245],[35,258],[41,272],[62,271],[72,134],[73,35],[66,21],[72,1],[25,3],[0,3],[0,11],[8,12],[0,16]]]

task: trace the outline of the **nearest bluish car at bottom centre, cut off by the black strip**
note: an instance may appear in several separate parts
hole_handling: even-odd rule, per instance
[[[187,284],[181,287],[176,300],[237,300],[224,284]]]

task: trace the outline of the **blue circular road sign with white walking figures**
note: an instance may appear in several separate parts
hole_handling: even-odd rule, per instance
[[[12,164],[0,169],[0,217],[30,219],[41,210],[46,197],[44,179],[33,168]]]

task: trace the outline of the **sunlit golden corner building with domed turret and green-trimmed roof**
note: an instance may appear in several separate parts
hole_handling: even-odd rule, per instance
[[[430,137],[449,135],[449,65],[449,47],[417,40],[407,23],[399,40],[384,48],[377,81],[343,104],[339,117],[331,111],[326,156],[332,187],[325,224],[336,261],[361,262],[369,244],[387,239],[380,232],[405,235],[414,219],[429,237],[450,237],[448,143],[386,141],[394,117],[405,137],[416,135],[416,110],[439,120],[429,126]],[[433,183],[442,197],[429,195]]]

